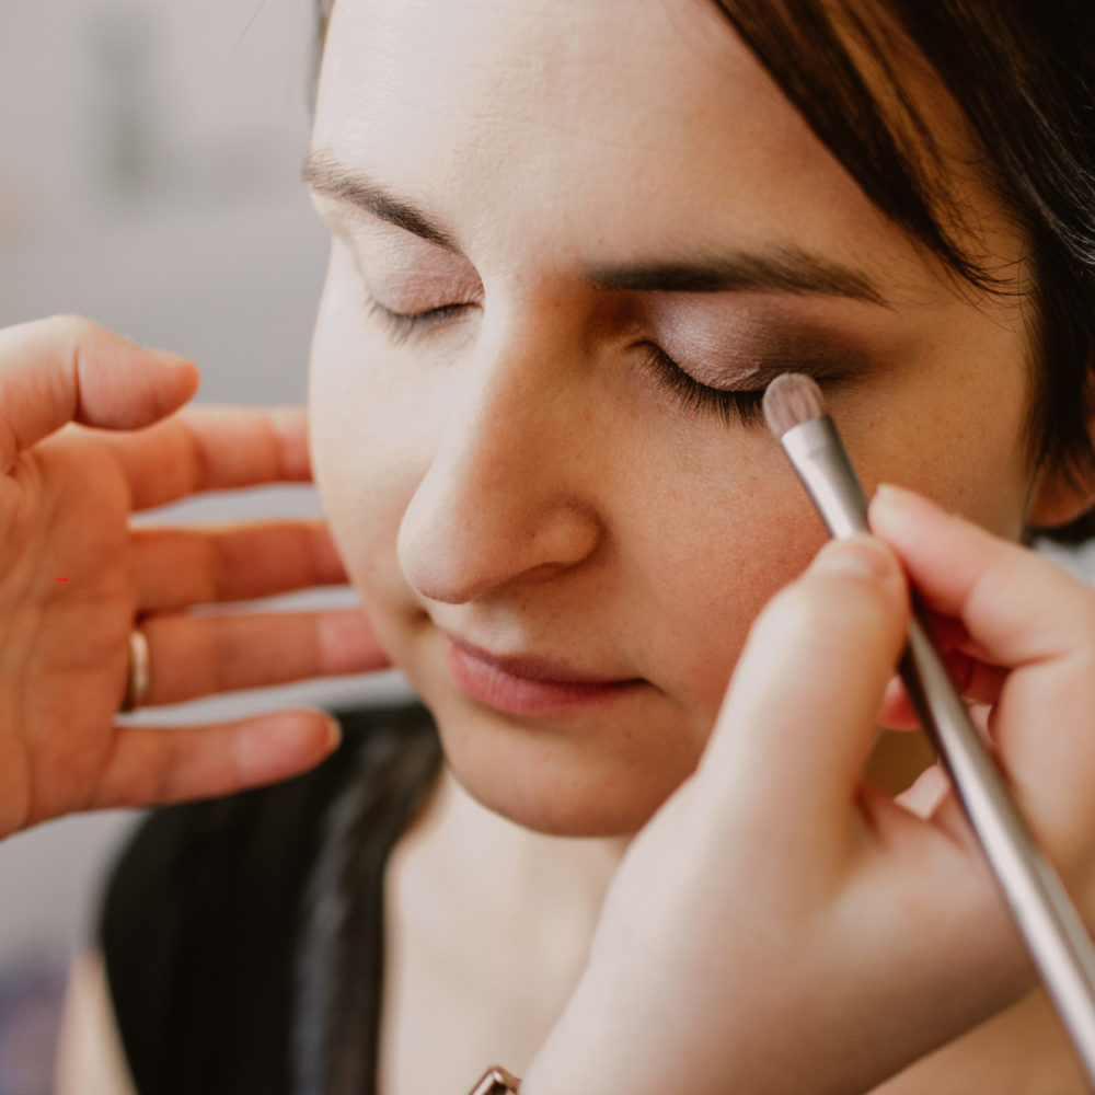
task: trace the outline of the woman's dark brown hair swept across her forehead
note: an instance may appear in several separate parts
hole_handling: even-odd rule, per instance
[[[875,206],[959,281],[1002,292],[956,242],[963,210],[901,64],[910,46],[927,61],[1027,242],[1031,457],[1095,476],[1095,0],[712,2]],[[333,4],[316,0],[321,42]]]

